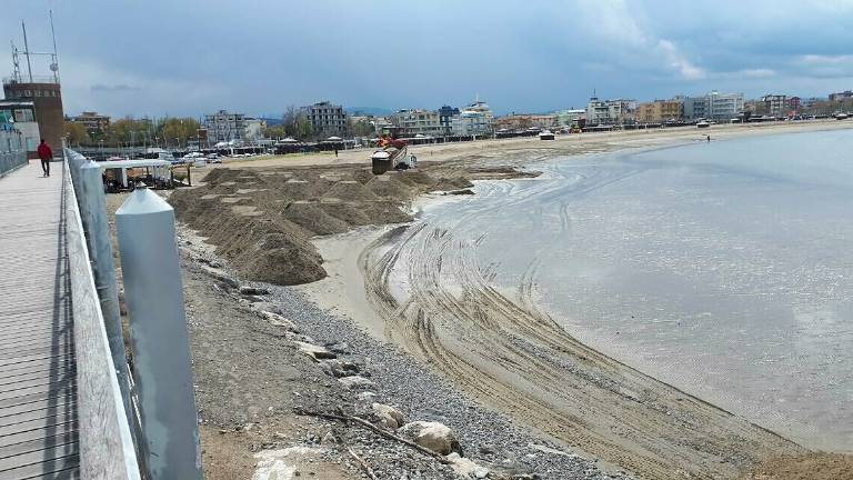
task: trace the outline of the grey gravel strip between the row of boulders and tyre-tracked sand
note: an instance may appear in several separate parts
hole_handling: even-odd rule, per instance
[[[407,421],[438,421],[456,433],[464,456],[509,476],[549,479],[624,479],[604,473],[593,460],[569,453],[564,447],[535,438],[506,417],[485,409],[455,391],[445,380],[395,347],[377,342],[350,320],[320,310],[294,288],[252,283],[270,291],[268,301],[301,331],[364,366],[375,401],[400,408]],[[369,400],[372,401],[372,400]],[[429,477],[431,478],[431,477]]]

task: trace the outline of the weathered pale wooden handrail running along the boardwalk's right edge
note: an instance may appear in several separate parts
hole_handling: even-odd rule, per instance
[[[74,318],[80,478],[139,480],[139,464],[104,330],[68,160],[62,162],[62,214]]]

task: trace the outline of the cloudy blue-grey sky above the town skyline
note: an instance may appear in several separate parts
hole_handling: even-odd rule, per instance
[[[853,0],[2,0],[9,41],[51,49],[67,113],[281,116],[331,100],[496,113],[711,90],[853,89]],[[33,73],[48,73],[44,58]]]

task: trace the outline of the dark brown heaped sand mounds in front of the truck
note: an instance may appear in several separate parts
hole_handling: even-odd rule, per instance
[[[203,186],[169,201],[247,279],[299,284],[325,277],[312,237],[411,221],[402,207],[417,194],[464,184],[421,171],[374,177],[359,167],[213,169]]]

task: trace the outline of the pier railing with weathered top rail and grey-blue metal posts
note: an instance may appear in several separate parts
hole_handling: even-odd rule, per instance
[[[131,371],[101,168],[73,150],[66,150],[66,159],[68,208],[73,210],[69,218],[78,219],[74,228],[69,227],[69,257],[81,399],[81,478],[136,480],[141,472],[152,480],[201,480],[174,211],[158,194],[138,189],[116,212],[132,326]],[[78,308],[83,309],[81,317]]]

